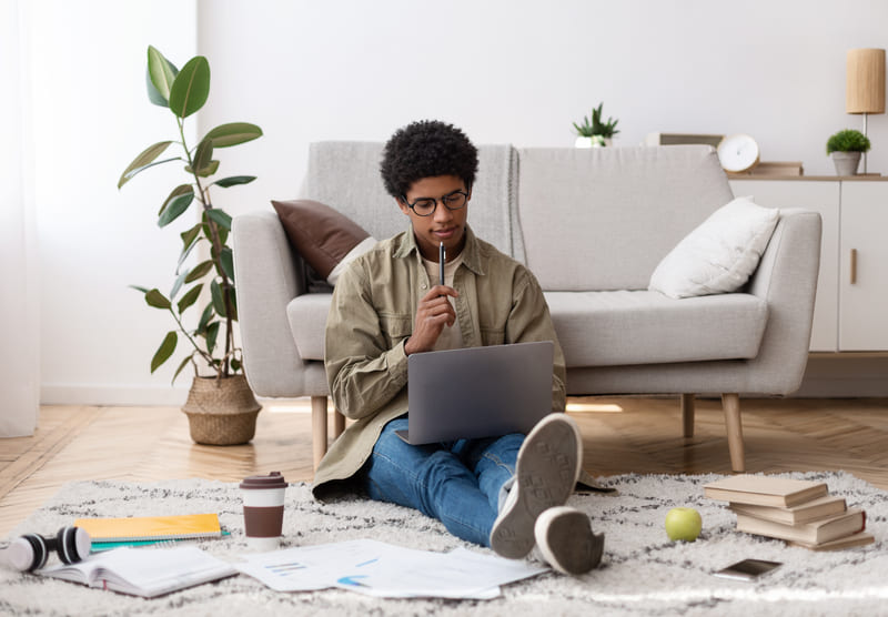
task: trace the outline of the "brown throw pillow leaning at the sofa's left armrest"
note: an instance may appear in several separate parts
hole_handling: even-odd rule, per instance
[[[286,236],[300,255],[326,279],[349,252],[370,237],[357,223],[311,200],[272,200]]]

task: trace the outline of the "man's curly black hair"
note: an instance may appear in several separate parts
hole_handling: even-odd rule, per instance
[[[402,199],[423,178],[455,175],[471,189],[478,170],[478,151],[453,124],[413,122],[395,131],[385,144],[380,171],[385,190]]]

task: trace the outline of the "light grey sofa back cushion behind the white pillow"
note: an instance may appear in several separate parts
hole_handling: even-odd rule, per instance
[[[663,256],[734,199],[709,145],[518,154],[526,263],[546,291],[646,290]]]

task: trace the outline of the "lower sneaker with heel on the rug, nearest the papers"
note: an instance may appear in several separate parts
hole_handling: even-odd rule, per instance
[[[586,574],[604,553],[604,534],[594,534],[589,517],[576,508],[549,508],[534,525],[536,546],[543,558],[562,574]]]

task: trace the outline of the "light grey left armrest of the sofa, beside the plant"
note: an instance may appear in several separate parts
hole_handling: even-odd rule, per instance
[[[306,363],[300,357],[286,305],[305,293],[302,259],[273,212],[236,216],[232,223],[234,280],[244,370],[260,396],[304,396]]]

